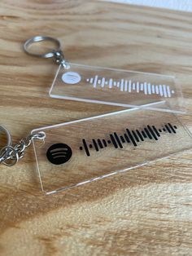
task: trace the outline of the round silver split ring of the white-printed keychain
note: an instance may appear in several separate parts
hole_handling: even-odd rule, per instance
[[[41,41],[50,41],[50,42],[54,42],[56,45],[56,49],[50,52],[46,52],[44,54],[37,54],[37,53],[33,53],[31,51],[28,51],[29,46],[33,45],[33,43],[35,42],[41,42]],[[51,58],[55,56],[55,51],[59,51],[61,48],[61,44],[59,42],[58,39],[56,38],[50,38],[50,37],[46,37],[46,36],[36,36],[33,38],[28,39],[26,42],[24,42],[24,51],[28,54],[28,55],[33,55],[39,58]]]

